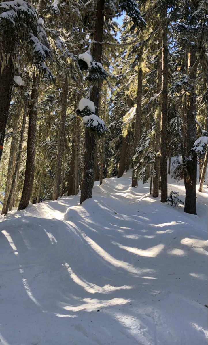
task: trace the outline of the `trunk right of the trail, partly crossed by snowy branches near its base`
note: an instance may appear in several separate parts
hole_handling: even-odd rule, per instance
[[[137,101],[136,101],[136,119],[134,129],[134,155],[136,154],[136,148],[141,138],[141,112],[142,112],[142,68],[138,71],[138,89],[137,89]],[[138,187],[138,174],[136,172],[136,161],[132,162],[132,187]]]

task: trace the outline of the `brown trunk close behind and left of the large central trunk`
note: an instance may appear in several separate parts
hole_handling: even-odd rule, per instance
[[[79,155],[80,155],[80,118],[76,116],[72,129],[72,157],[68,181],[68,195],[79,193]]]

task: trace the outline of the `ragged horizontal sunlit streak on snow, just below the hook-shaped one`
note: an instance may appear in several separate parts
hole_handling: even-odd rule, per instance
[[[84,298],[81,300],[85,303],[77,307],[73,307],[69,305],[69,306],[64,307],[64,309],[68,311],[72,311],[72,312],[79,312],[81,310],[85,310],[86,312],[93,312],[101,307],[105,308],[105,307],[111,307],[114,305],[123,305],[123,304],[131,302],[130,299],[124,299],[124,298],[113,298],[110,300]]]

